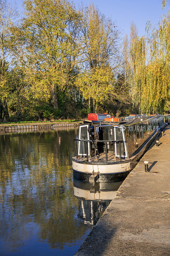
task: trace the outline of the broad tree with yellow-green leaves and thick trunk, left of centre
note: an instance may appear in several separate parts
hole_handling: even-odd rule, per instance
[[[77,65],[81,16],[67,0],[26,0],[25,17],[14,27],[11,51],[39,91],[50,92],[58,109],[57,90],[64,91]],[[29,77],[28,76],[28,77]],[[36,97],[36,95],[34,95]]]

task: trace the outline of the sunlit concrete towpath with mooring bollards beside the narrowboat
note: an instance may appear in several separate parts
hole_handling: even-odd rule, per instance
[[[80,246],[75,256],[168,256],[170,202],[170,126],[118,189],[116,198]]]

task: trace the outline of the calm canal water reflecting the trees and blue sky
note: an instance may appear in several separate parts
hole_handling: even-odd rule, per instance
[[[0,135],[0,256],[72,256],[111,202],[73,180],[76,133]]]

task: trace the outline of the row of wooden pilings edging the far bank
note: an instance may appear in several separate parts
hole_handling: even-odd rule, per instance
[[[60,124],[34,124],[34,125],[13,125],[1,126],[0,132],[34,132],[42,129],[58,130],[61,128],[71,129],[79,123],[60,123]]]

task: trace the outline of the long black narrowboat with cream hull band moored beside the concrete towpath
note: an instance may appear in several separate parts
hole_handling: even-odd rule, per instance
[[[140,115],[119,119],[107,114],[92,115],[79,124],[78,138],[74,139],[76,156],[72,158],[73,177],[92,183],[124,180],[169,118]]]

